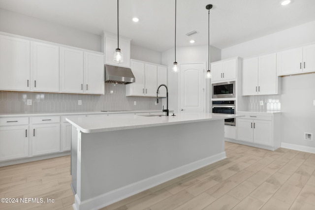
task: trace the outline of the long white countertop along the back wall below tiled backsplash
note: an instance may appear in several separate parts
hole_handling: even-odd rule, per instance
[[[95,114],[117,114],[117,113],[162,113],[162,110],[124,110],[124,111],[78,111],[78,112],[36,112],[36,113],[0,113],[0,117],[35,117],[35,116],[47,116],[47,115],[95,115]],[[169,111],[173,112],[173,111]]]

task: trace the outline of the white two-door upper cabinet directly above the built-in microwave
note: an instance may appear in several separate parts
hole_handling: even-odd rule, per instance
[[[211,63],[212,82],[236,79],[237,58]]]

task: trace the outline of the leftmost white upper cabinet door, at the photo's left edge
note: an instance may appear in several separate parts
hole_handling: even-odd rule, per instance
[[[0,35],[0,90],[30,90],[30,41]]]

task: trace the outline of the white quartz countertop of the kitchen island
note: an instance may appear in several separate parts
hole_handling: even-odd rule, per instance
[[[69,117],[66,118],[73,126],[83,133],[125,130],[133,128],[153,127],[170,124],[181,124],[208,120],[224,120],[244,117],[243,115],[213,114],[213,113],[184,113],[175,116],[97,116],[97,117]]]

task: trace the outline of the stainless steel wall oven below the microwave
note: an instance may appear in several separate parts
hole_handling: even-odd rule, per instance
[[[235,114],[235,101],[212,101],[212,113]],[[235,118],[224,120],[226,125],[235,125],[235,122]]]

